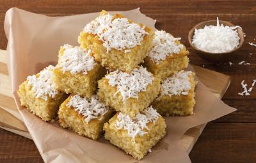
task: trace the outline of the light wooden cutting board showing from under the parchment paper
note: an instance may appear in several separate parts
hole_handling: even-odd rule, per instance
[[[6,51],[0,50],[0,127],[7,131],[32,139],[28,129],[20,117],[19,111],[15,106],[10,78],[8,76],[6,58]],[[211,90],[216,97],[221,99],[230,84],[230,76],[198,66],[193,67],[199,80],[202,81],[202,83],[204,83],[204,85],[207,86],[207,88]],[[188,153],[192,150],[198,137],[204,130],[205,125],[206,124],[202,124],[189,129],[182,137],[181,141]]]

